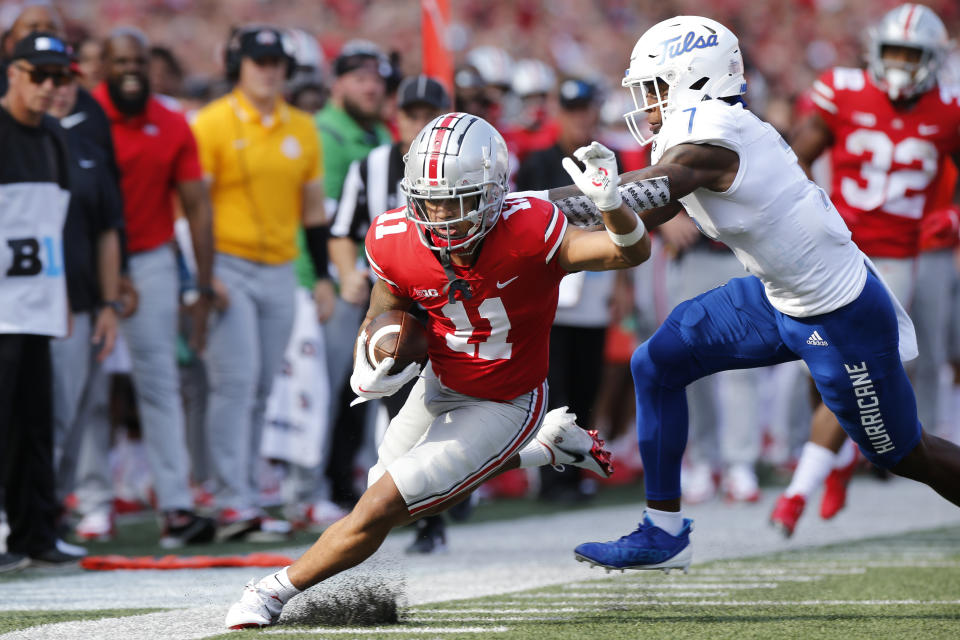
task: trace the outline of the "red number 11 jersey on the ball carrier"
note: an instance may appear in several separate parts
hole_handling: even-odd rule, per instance
[[[440,260],[403,207],[373,221],[367,259],[395,295],[429,313],[428,352],[440,381],[470,396],[508,401],[547,377],[550,326],[567,274],[556,257],[566,229],[552,203],[508,197],[476,263],[453,268],[469,284],[469,300],[449,300]]]

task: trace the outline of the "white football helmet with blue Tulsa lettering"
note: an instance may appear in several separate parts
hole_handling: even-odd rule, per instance
[[[661,95],[658,80],[667,85],[666,96]],[[651,109],[660,107],[666,122],[701,100],[746,93],[740,42],[716,20],[699,16],[664,20],[637,40],[622,84],[630,89],[635,107],[623,116],[627,127],[637,142],[647,144],[656,137],[645,134],[643,121]]]

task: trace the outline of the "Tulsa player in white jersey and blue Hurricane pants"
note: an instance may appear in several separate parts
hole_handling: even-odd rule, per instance
[[[654,142],[653,166],[621,176],[625,200],[648,227],[683,207],[752,275],[680,304],[634,353],[647,510],[635,531],[581,544],[577,559],[617,569],[689,565],[684,390],[727,369],[803,359],[867,458],[960,504],[960,448],[923,432],[901,362],[916,352],[909,317],[790,147],[745,108],[736,36],[707,18],[665,20],[637,41],[623,85],[636,105],[625,116],[634,137]],[[572,190],[550,197],[568,215],[588,209]]]

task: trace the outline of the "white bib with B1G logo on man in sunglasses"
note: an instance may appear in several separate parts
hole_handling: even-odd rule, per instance
[[[69,202],[55,182],[0,185],[0,333],[66,335]]]

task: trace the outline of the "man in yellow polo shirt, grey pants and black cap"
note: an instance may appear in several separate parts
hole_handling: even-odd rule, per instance
[[[272,27],[236,32],[226,51],[228,95],[193,125],[214,209],[215,272],[229,305],[207,349],[207,433],[221,538],[289,532],[259,508],[263,414],[293,329],[293,259],[302,223],[317,272],[326,273],[320,142],[310,116],[284,102],[293,64]],[[318,280],[333,298],[329,279]],[[316,296],[315,296],[316,297]]]

